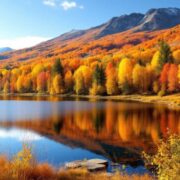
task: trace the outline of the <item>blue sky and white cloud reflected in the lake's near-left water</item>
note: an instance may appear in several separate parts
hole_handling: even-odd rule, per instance
[[[0,154],[6,154],[6,156],[12,158],[14,154],[22,149],[24,143],[28,143],[32,147],[32,153],[38,162],[49,162],[57,167],[68,161],[84,158],[104,158],[81,148],[72,149],[33,131],[19,128],[0,129]]]

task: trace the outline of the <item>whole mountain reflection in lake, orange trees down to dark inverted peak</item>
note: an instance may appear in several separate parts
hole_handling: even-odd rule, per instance
[[[88,108],[80,108],[82,104]],[[180,132],[180,112],[163,106],[112,101],[64,102],[63,109],[58,103],[52,106],[52,114],[46,118],[4,121],[1,125],[31,129],[72,148],[81,147],[113,162],[132,165],[141,163],[142,150],[154,152],[154,145],[167,136],[167,128]]]

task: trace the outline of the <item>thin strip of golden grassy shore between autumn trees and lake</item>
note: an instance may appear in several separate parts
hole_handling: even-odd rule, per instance
[[[130,102],[142,102],[142,103],[152,103],[165,105],[170,109],[180,110],[180,93],[171,94],[166,96],[157,96],[157,95],[114,95],[114,96],[92,96],[92,95],[76,95],[76,94],[62,94],[62,95],[49,95],[46,93],[13,93],[13,94],[4,94],[0,93],[0,97],[59,97],[59,98],[85,98],[85,99],[95,99],[95,100],[117,100],[117,101],[130,101]]]

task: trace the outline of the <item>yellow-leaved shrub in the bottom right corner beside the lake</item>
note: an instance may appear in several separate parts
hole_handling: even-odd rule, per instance
[[[143,153],[145,162],[155,166],[157,177],[160,180],[174,180],[180,177],[180,136],[170,135],[158,144],[157,154]]]

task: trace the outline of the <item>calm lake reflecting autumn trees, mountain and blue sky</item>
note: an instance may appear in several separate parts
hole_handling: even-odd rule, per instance
[[[103,158],[144,173],[141,152],[180,133],[180,111],[164,105],[58,97],[0,97],[0,154],[11,158],[23,143],[39,162],[59,167]],[[120,168],[120,166],[118,167]],[[108,171],[114,169],[108,167]]]

